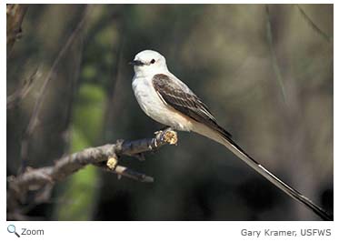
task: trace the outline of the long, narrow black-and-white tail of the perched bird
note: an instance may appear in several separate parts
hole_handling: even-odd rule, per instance
[[[324,208],[319,207],[314,204],[311,199],[308,197],[304,197],[303,194],[295,190],[293,187],[288,186],[285,184],[282,180],[280,180],[278,177],[274,176],[269,170],[267,170],[264,166],[262,166],[260,163],[254,160],[251,156],[248,156],[244,150],[238,146],[234,140],[228,136],[223,134],[220,131],[215,131],[209,128],[205,128],[203,126],[200,126],[201,128],[198,128],[197,130],[193,130],[196,133],[199,133],[200,135],[207,136],[211,139],[214,139],[214,141],[222,144],[223,146],[226,146],[229,150],[231,150],[235,156],[238,156],[241,158],[248,166],[251,166],[254,168],[256,172],[258,172],[260,175],[264,176],[267,180],[269,180],[271,183],[274,184],[275,187],[280,188],[284,191],[288,196],[293,197],[296,201],[303,204],[305,207],[308,207],[311,209],[316,215],[323,218],[324,220],[332,221],[334,220],[333,215],[327,213]]]

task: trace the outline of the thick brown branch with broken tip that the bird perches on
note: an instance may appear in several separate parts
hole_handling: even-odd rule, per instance
[[[154,178],[151,176],[117,165],[119,156],[139,157],[145,152],[155,151],[165,145],[176,145],[176,143],[176,132],[167,128],[164,131],[155,132],[153,138],[134,141],[118,140],[115,144],[86,148],[83,151],[61,157],[55,161],[54,166],[36,169],[27,167],[21,175],[7,177],[7,214],[18,214],[17,209],[20,204],[26,202],[27,192],[50,187],[55,182],[64,180],[65,177],[73,175],[87,165],[99,166],[119,177],[126,176],[140,182],[153,182]]]

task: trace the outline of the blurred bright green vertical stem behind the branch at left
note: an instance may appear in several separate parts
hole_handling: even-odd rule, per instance
[[[75,153],[95,146],[102,133],[105,110],[105,92],[102,86],[84,84],[79,88],[71,126],[71,148]],[[77,172],[58,195],[56,220],[90,220],[93,217],[98,188],[98,172],[93,166]]]

